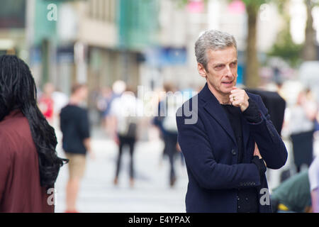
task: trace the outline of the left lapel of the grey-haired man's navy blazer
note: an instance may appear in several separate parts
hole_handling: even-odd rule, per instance
[[[214,96],[213,93],[211,93],[211,90],[208,88],[207,83],[205,87],[201,90],[199,96],[201,99],[203,99],[203,101],[205,101],[203,108],[206,109],[208,114],[210,114],[211,116],[213,116],[213,118],[216,119],[220,126],[228,133],[233,142],[237,144],[233,128],[232,126],[230,126],[228,116],[223,110],[223,107],[220,105],[219,101],[216,99],[216,96]]]

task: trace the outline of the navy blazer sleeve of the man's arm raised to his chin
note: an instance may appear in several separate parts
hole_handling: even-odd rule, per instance
[[[262,121],[259,123],[248,122],[250,133],[258,145],[260,155],[262,155],[267,167],[278,170],[286,164],[288,157],[286,146],[270,120],[269,112],[260,96],[257,96],[256,102]]]

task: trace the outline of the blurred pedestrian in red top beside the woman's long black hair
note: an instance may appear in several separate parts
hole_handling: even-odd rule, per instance
[[[55,87],[51,83],[47,83],[44,85],[43,94],[40,96],[38,101],[39,109],[43,113],[43,116],[52,124],[53,114],[54,114],[54,100],[52,98],[52,94],[55,92]]]

